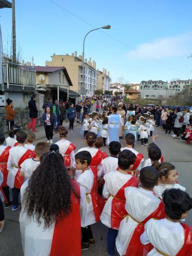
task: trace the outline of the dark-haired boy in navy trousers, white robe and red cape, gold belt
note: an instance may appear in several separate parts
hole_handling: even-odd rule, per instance
[[[136,155],[130,150],[123,150],[118,154],[118,167],[116,172],[110,172],[103,177],[105,185],[103,197],[107,200],[100,216],[101,222],[108,227],[108,255],[115,253],[115,240],[120,222],[127,215],[125,210],[124,189],[138,187],[136,176],[131,175]]]

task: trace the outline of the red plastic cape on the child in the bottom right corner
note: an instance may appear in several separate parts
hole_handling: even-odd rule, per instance
[[[192,227],[181,223],[185,231],[185,241],[181,250],[177,253],[176,256],[191,256],[192,255]]]

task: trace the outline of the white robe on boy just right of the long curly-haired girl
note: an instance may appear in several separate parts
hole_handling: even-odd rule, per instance
[[[93,180],[94,175],[91,169],[81,173],[76,179],[80,187],[80,216],[82,227],[86,227],[96,222],[91,195],[86,195],[87,193],[90,193],[93,188]],[[87,197],[89,197],[90,203],[87,202]]]

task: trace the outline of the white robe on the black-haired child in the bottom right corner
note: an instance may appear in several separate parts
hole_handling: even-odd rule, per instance
[[[185,232],[179,222],[150,219],[145,224],[145,231],[140,240],[142,244],[150,242],[154,246],[147,256],[161,256],[155,247],[163,253],[175,256],[184,245]]]

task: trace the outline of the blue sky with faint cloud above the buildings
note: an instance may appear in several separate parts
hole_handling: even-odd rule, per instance
[[[123,44],[100,31],[91,32],[85,58],[95,60],[100,70],[110,71],[112,82],[118,77],[133,83],[192,78],[192,58],[188,59],[192,53],[191,0],[53,1],[94,27],[111,25],[102,31]],[[82,54],[84,35],[93,29],[50,0],[16,0],[15,12],[17,44],[23,59],[31,61],[34,56],[36,65],[45,65],[53,53],[76,50]],[[0,23],[6,52],[11,9],[0,10]]]

